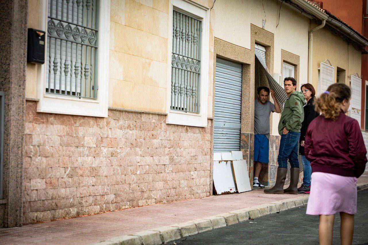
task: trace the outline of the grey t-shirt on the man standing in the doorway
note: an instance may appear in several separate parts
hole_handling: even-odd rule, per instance
[[[266,101],[265,104],[254,100],[254,134],[265,134],[270,136],[270,113],[275,111],[275,105]]]

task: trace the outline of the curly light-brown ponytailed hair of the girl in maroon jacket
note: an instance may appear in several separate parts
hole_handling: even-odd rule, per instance
[[[343,100],[348,101],[350,97],[351,90],[347,85],[332,84],[316,99],[315,109],[322,113],[323,117],[336,121],[340,115],[341,103]]]

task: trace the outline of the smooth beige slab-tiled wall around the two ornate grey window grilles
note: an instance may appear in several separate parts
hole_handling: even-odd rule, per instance
[[[211,7],[213,0],[195,2]],[[30,28],[40,28],[39,11],[39,0],[29,0]],[[111,0],[110,13],[109,106],[166,113],[169,0]],[[213,31],[209,42],[212,79]],[[37,99],[38,67],[27,65],[27,98]]]

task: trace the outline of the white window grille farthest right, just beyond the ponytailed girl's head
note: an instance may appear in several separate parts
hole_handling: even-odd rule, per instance
[[[350,117],[356,119],[359,125],[360,125],[360,119],[361,119],[361,84],[362,84],[362,79],[360,79],[358,75],[351,75]]]

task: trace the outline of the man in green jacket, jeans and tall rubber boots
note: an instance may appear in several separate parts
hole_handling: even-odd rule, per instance
[[[279,122],[279,134],[281,135],[279,156],[277,162],[276,183],[271,189],[265,190],[270,194],[297,194],[299,180],[298,144],[300,128],[304,120],[305,98],[302,92],[296,91],[297,81],[292,77],[284,79],[284,89],[287,99]],[[284,189],[287,174],[287,160],[290,160],[290,185]]]

